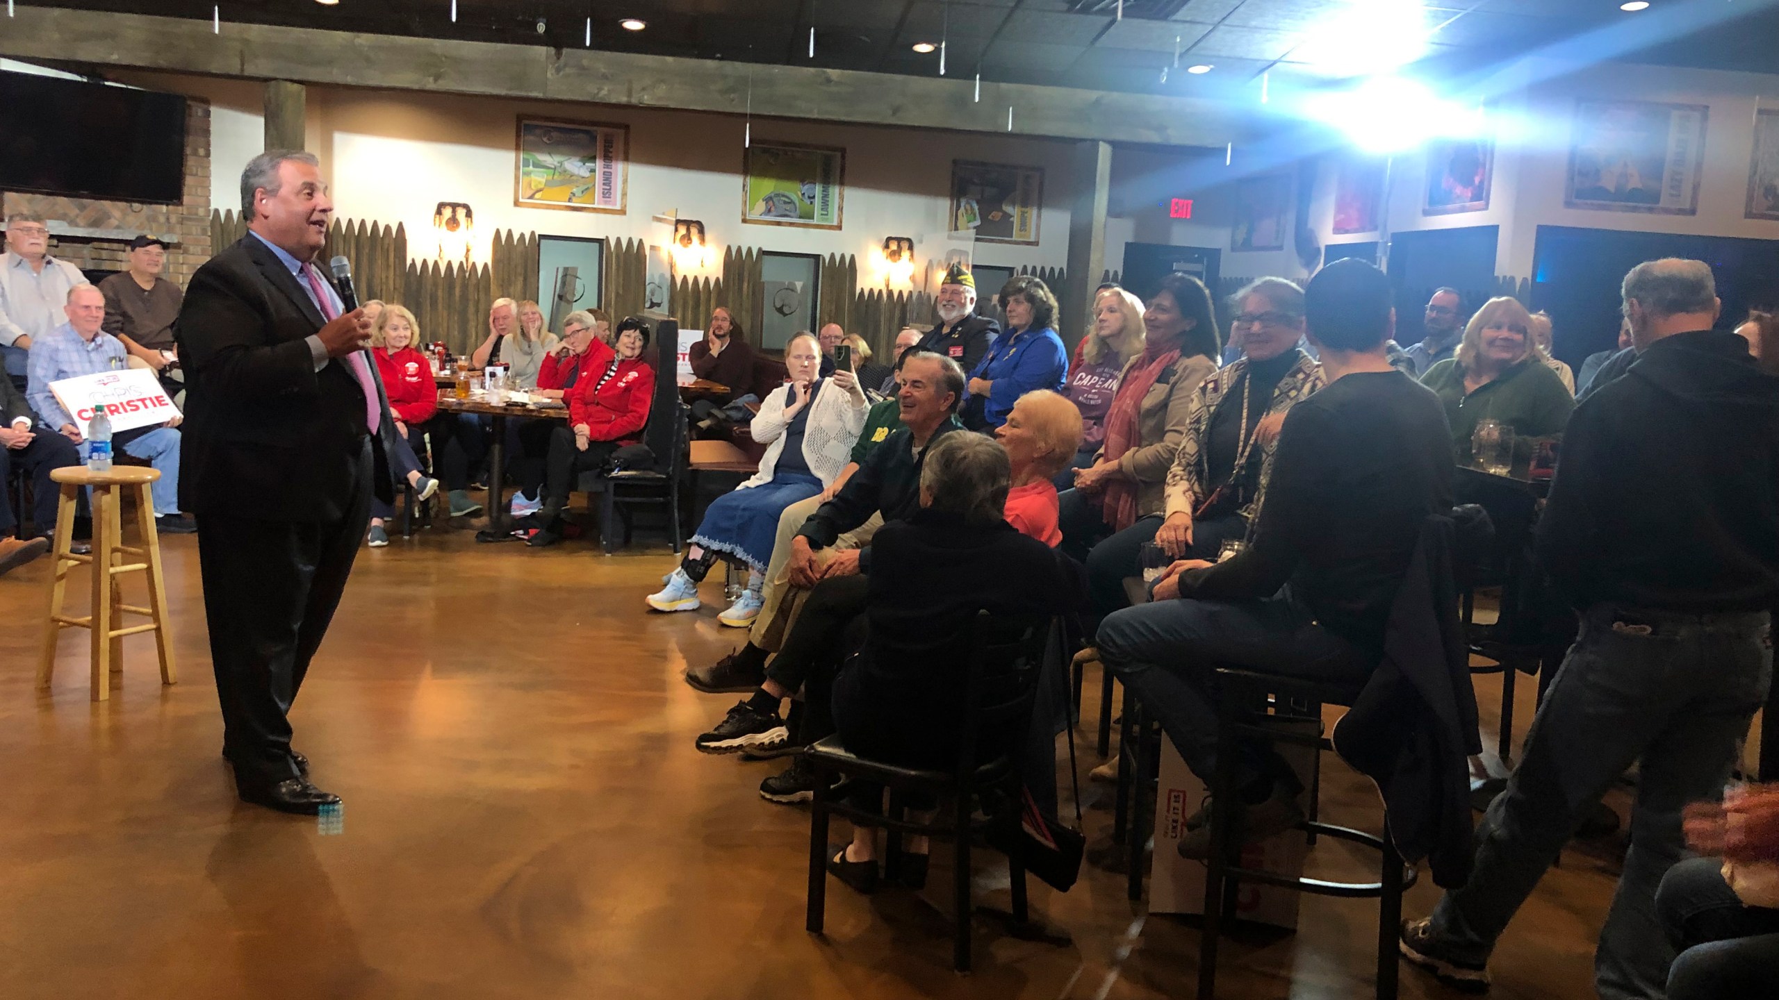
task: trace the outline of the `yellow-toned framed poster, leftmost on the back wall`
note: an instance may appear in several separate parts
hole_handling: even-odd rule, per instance
[[[628,125],[519,117],[516,206],[621,215],[628,192]]]

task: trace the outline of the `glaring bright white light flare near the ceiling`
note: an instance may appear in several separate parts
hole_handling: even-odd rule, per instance
[[[1478,139],[1489,128],[1480,107],[1441,98],[1400,77],[1373,77],[1357,87],[1315,94],[1304,101],[1304,112],[1372,153],[1397,153],[1429,139]]]

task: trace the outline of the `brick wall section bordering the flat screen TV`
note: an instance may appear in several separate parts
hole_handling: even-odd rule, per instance
[[[87,201],[48,194],[0,196],[0,219],[12,212],[34,212],[52,222],[84,230],[128,230],[174,237],[167,247],[171,281],[185,286],[197,267],[210,260],[210,101],[192,98],[185,110],[185,201],[181,205],[132,205],[126,201]],[[53,228],[53,226],[52,226]],[[123,270],[128,238],[93,240],[52,237],[50,254],[82,269]]]

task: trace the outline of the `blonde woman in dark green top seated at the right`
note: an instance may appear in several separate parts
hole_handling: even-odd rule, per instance
[[[1574,409],[1562,379],[1537,359],[1532,313],[1507,295],[1469,317],[1457,354],[1429,368],[1421,383],[1445,404],[1461,463],[1471,461],[1471,436],[1482,420],[1512,427],[1516,452],[1528,452],[1533,438],[1562,434]]]

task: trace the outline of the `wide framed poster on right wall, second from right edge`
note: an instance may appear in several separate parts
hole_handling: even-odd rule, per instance
[[[1564,205],[1697,215],[1706,105],[1576,101]]]

